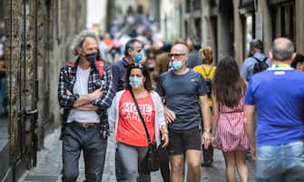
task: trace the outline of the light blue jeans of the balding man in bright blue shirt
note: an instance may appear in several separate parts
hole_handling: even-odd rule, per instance
[[[304,143],[257,147],[258,182],[304,181]]]

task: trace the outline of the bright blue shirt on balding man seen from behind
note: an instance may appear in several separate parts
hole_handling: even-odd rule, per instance
[[[304,73],[275,68],[251,77],[245,105],[257,110],[257,147],[302,141],[304,136]]]

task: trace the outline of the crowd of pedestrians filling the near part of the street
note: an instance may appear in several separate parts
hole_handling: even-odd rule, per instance
[[[213,65],[211,46],[195,51],[200,60],[191,68],[191,41],[152,50],[138,38],[110,66],[99,60],[98,42],[83,30],[73,44],[78,58],[60,72],[63,181],[76,180],[81,151],[86,180],[101,181],[109,126],[117,181],[151,181],[141,170],[150,143],[160,151],[163,181],[200,181],[213,147],[222,151],[227,181],[236,171],[249,181],[249,151],[258,181],[304,178],[304,60],[288,38],[275,39],[269,57],[252,40],[240,69],[231,56]]]

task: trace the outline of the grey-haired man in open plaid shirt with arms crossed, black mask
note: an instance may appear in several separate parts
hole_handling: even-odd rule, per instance
[[[106,125],[106,108],[113,100],[112,75],[97,61],[98,39],[83,30],[72,45],[76,61],[63,66],[59,75],[58,100],[63,116],[63,177],[74,182],[83,150],[85,178],[102,181],[107,138],[100,132]]]

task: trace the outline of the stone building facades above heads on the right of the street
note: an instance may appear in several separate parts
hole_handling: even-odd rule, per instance
[[[241,64],[252,38],[264,42],[266,54],[278,36],[289,37],[304,53],[302,0],[164,0],[160,6],[162,37],[189,37],[211,45],[215,64],[224,56]],[[164,14],[173,17],[166,19],[169,28],[162,25]]]

